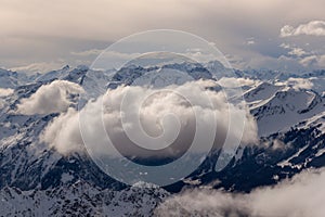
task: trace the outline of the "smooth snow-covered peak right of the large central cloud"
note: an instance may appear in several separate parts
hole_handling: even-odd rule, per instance
[[[273,91],[269,91],[268,94],[264,93],[263,97],[266,97],[266,100],[255,101],[256,104],[250,110],[257,119],[260,136],[287,130],[291,126],[325,111],[325,100],[317,92],[292,88],[276,91],[274,86],[269,89]],[[259,97],[256,99],[261,99]],[[248,99],[251,99],[250,94],[248,94]]]

